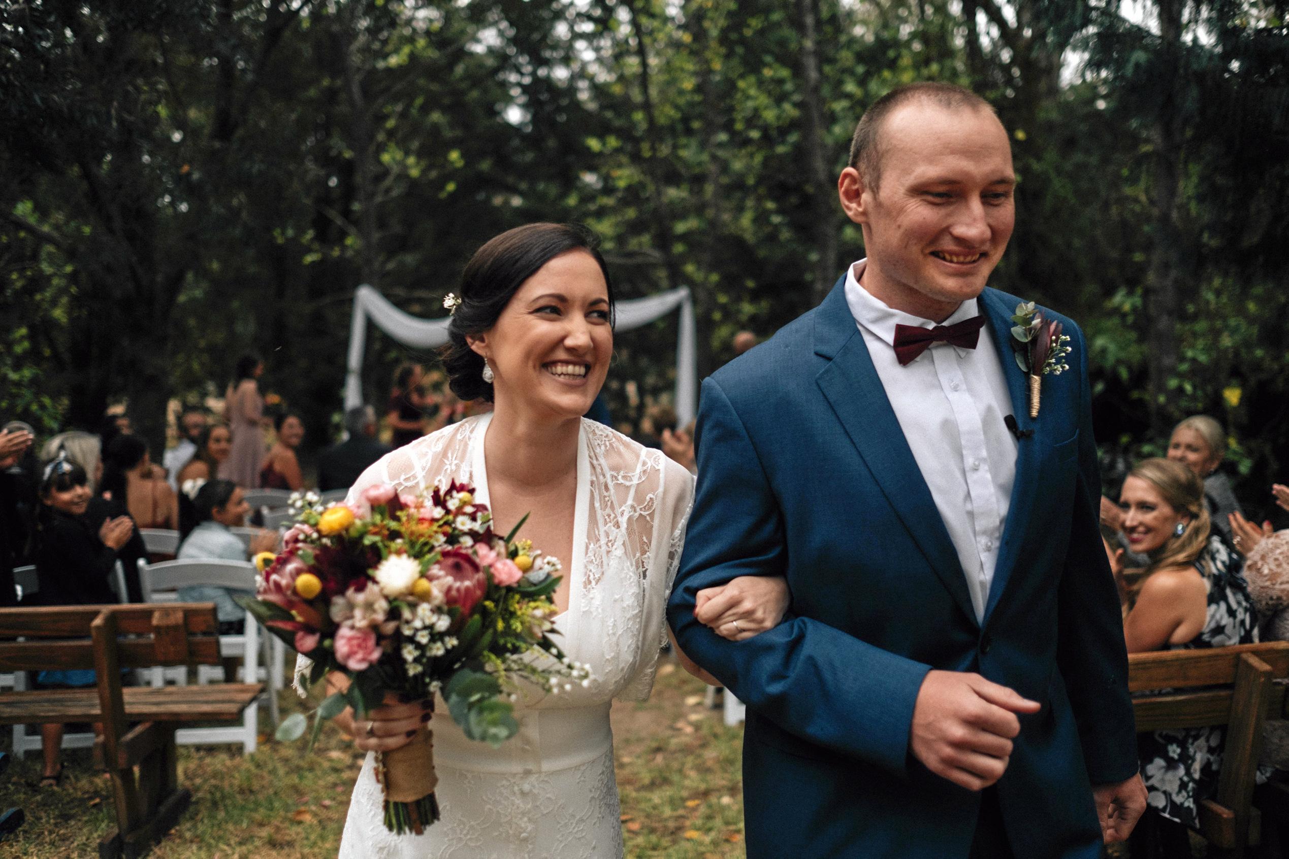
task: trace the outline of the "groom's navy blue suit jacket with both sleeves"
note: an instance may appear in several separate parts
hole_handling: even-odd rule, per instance
[[[1022,431],[984,622],[846,304],[843,281],[703,382],[699,482],[668,618],[681,648],[748,704],[749,859],[965,858],[980,795],[909,751],[931,668],[977,671],[1043,704],[998,782],[1017,856],[1100,856],[1090,786],[1137,771],[1127,654],[1097,531],[1087,344],[1043,377],[1030,420],[1012,358],[1020,299],[985,290]],[[1005,426],[986,431],[1008,431]],[[785,576],[788,617],[746,641],[693,619],[695,594]]]

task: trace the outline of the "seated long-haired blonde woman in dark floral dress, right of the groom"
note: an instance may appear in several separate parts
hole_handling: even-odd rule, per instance
[[[1128,589],[1124,637],[1129,653],[1250,644],[1258,640],[1240,559],[1212,532],[1199,475],[1173,460],[1145,460],[1119,497],[1129,546],[1150,565]],[[1217,789],[1222,729],[1192,728],[1138,737],[1141,773],[1150,792],[1134,850],[1190,855],[1186,827]],[[1138,855],[1134,853],[1134,855]]]

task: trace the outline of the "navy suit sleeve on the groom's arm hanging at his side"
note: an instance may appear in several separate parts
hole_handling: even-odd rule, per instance
[[[1074,334],[1080,385],[1079,473],[1070,547],[1061,572],[1057,665],[1070,693],[1088,778],[1093,784],[1112,784],[1137,773],[1137,734],[1119,592],[1097,524],[1101,473],[1092,435],[1087,341],[1078,328]]]

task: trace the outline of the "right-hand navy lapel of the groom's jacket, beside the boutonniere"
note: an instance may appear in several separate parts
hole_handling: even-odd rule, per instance
[[[1007,507],[1007,523],[1003,527],[1003,545],[998,551],[998,563],[994,567],[994,580],[989,586],[989,600],[985,605],[985,622],[998,604],[1007,582],[1011,578],[1012,568],[1016,567],[1017,555],[1023,542],[1026,532],[1034,519],[1035,493],[1038,492],[1039,475],[1039,446],[1043,443],[1039,421],[1030,419],[1029,380],[1016,363],[1012,349],[1012,314],[1016,308],[1008,307],[1002,295],[994,290],[985,290],[980,300],[981,312],[985,314],[986,330],[994,337],[998,346],[998,357],[1003,364],[1003,375],[1007,377],[1007,392],[1012,399],[1012,415],[1016,424],[1023,433],[1034,430],[1029,438],[1017,442],[1016,451],[1016,477],[1012,480],[1012,496]],[[1040,412],[1042,415],[1042,412]]]

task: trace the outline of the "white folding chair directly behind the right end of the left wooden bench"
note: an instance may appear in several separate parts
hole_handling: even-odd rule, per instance
[[[238,560],[164,560],[157,564],[139,564],[139,583],[143,587],[143,599],[148,603],[173,603],[179,599],[180,587],[235,587],[240,590],[255,589],[255,567],[249,562]],[[246,612],[245,628],[240,635],[220,635],[219,652],[226,657],[241,657],[242,675],[246,683],[257,683],[259,679],[260,657],[259,625],[250,612]],[[219,679],[223,679],[218,666],[201,666],[197,671],[197,683],[209,680],[209,674],[204,668],[215,668]],[[164,676],[160,670],[153,670],[152,685],[162,685]],[[272,674],[271,671],[268,672]],[[187,683],[187,671],[183,675],[174,675],[175,683]],[[269,712],[273,722],[277,722],[277,692],[268,689]],[[253,703],[246,708],[240,726],[228,728],[184,728],[175,732],[175,742],[182,746],[206,746],[211,743],[241,743],[242,751],[250,755],[255,751],[257,732],[259,730],[259,703]]]

